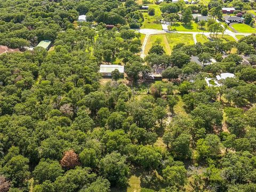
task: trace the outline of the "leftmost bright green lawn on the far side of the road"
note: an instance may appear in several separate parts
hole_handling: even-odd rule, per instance
[[[157,23],[155,17],[161,16],[161,10],[159,5],[155,5],[155,4],[149,4],[149,7],[152,7],[155,9],[155,15],[150,16],[148,14],[148,11],[143,11],[143,17],[144,17],[144,21],[142,23],[141,29],[158,29],[161,30],[162,29],[162,25],[161,23]]]

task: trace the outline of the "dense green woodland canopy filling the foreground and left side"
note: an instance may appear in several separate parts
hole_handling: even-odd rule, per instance
[[[186,9],[170,5],[163,16]],[[171,55],[156,39],[143,59],[139,10],[134,0],[0,0],[0,45],[21,50],[0,55],[0,191],[123,191],[138,174],[142,192],[256,191],[255,34]],[[34,47],[45,39],[49,51]],[[100,65],[114,62],[125,77],[105,81]],[[148,83],[158,69],[163,81]],[[235,77],[207,86],[220,73]]]

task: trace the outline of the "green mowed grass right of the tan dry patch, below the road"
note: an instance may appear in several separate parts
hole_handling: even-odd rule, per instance
[[[166,38],[171,50],[173,49],[173,46],[177,45],[178,43],[194,45],[194,39],[192,34],[166,34]]]

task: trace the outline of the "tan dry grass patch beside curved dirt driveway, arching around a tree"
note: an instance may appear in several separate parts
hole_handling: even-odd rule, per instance
[[[168,45],[169,41],[167,41],[167,38],[166,38],[165,34],[150,35],[148,37],[145,53],[148,54],[148,51],[153,46],[153,44],[155,43],[157,38],[161,39],[161,41],[162,41],[161,45],[164,47],[165,53],[166,54],[171,54],[171,49],[170,49],[170,46]]]

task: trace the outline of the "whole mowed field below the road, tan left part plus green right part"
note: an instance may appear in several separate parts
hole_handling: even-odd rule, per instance
[[[150,35],[147,41],[145,53],[148,54],[148,51],[155,43],[156,39],[161,39],[161,45],[164,47],[166,54],[171,54],[173,46],[178,43],[185,43],[187,45],[193,45],[194,40],[191,34],[159,34],[159,35]]]

